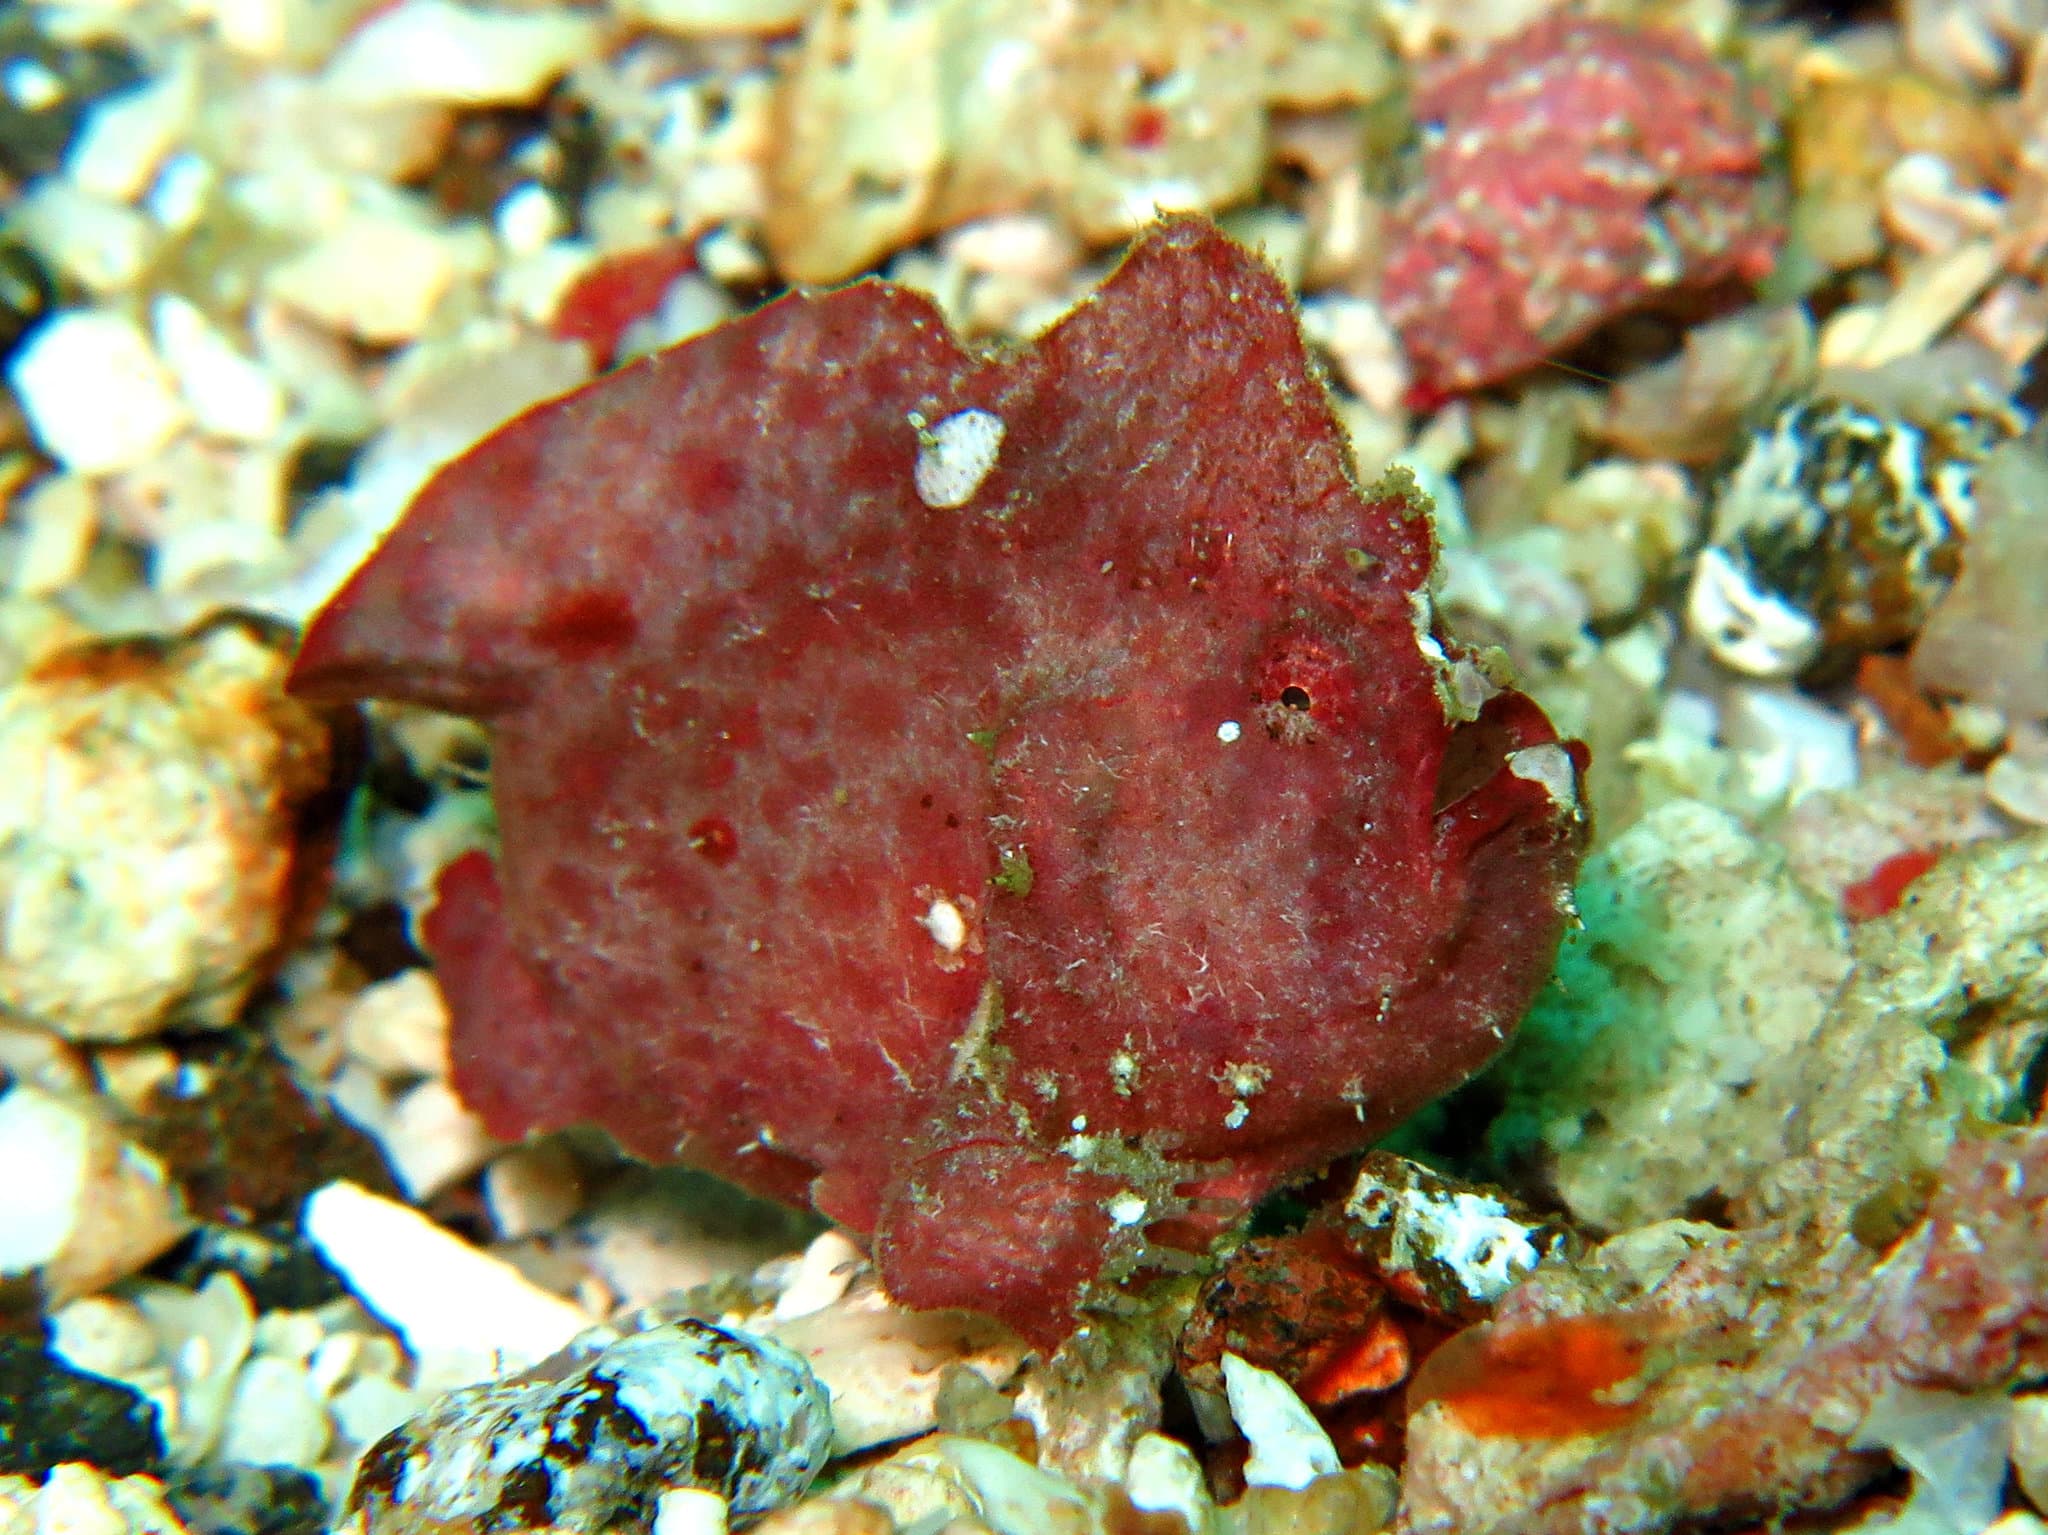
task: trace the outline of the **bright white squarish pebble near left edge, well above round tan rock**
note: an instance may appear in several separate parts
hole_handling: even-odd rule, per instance
[[[51,315],[14,354],[8,377],[37,440],[82,475],[133,469],[184,426],[170,370],[127,315]]]

